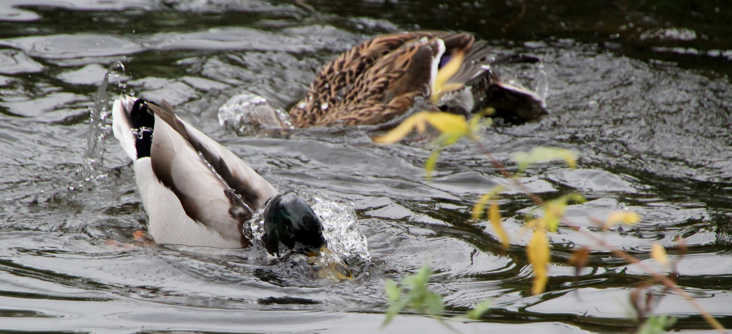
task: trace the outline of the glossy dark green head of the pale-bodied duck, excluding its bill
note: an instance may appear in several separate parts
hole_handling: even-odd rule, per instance
[[[293,192],[278,194],[264,209],[264,246],[270,254],[291,249],[305,254],[326,246],[323,226],[313,208]]]

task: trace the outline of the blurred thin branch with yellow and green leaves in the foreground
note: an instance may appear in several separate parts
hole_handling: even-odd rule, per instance
[[[503,166],[503,164],[498,162],[498,160],[493,157],[490,151],[488,151],[485,146],[483,146],[482,143],[480,143],[479,141],[479,131],[484,126],[490,124],[490,119],[484,121],[482,120],[482,118],[484,115],[490,115],[491,113],[493,113],[493,110],[483,110],[483,112],[473,115],[468,121],[466,120],[466,118],[460,115],[423,111],[421,113],[412,115],[409,118],[406,118],[406,120],[403,121],[403,123],[397,126],[395,129],[392,129],[384,136],[373,138],[373,141],[375,143],[383,144],[397,143],[398,141],[403,140],[409,133],[414,130],[422,133],[425,132],[427,126],[433,126],[433,128],[437,129],[440,134],[432,142],[432,145],[436,147],[435,151],[430,154],[430,157],[425,162],[425,171],[427,172],[427,178],[431,177],[440,152],[447,146],[457,143],[458,140],[462,139],[463,137],[468,138],[468,140],[471,140],[479,145],[479,148],[481,148],[482,151],[489,157],[496,169],[500,171],[501,174],[504,175],[504,177],[511,180],[515,186],[518,186],[519,189],[522,189],[523,193],[526,194],[529,199],[531,199],[542,208],[541,216],[527,219],[526,224],[524,225],[525,229],[532,229],[533,231],[529,243],[526,246],[526,253],[534,273],[534,278],[531,286],[532,294],[537,295],[544,292],[548,281],[548,266],[550,263],[550,242],[547,233],[556,232],[559,225],[564,224],[565,226],[572,227],[573,229],[580,230],[580,232],[589,235],[589,237],[596,241],[598,245],[607,248],[608,250],[613,252],[613,254],[616,254],[618,257],[626,260],[628,263],[638,264],[643,267],[643,270],[646,270],[647,273],[650,273],[651,277],[654,278],[654,281],[659,282],[660,284],[666,286],[667,289],[672,289],[686,297],[687,300],[690,300],[690,303],[692,303],[692,305],[694,305],[695,308],[697,308],[701,312],[706,321],[709,322],[709,324],[712,324],[712,327],[720,330],[722,333],[726,333],[724,328],[719,324],[719,322],[716,321],[716,319],[714,319],[714,317],[704,311],[701,305],[696,303],[696,301],[693,300],[690,295],[680,289],[679,286],[676,286],[676,284],[673,283],[670,278],[662,275],[661,273],[655,272],[647,265],[639,262],[638,259],[635,259],[635,257],[632,257],[630,254],[627,254],[626,252],[621,251],[618,248],[610,246],[608,243],[605,242],[605,240],[597,238],[597,236],[593,235],[591,232],[585,229],[580,229],[580,227],[578,227],[576,224],[572,224],[571,221],[568,221],[564,217],[567,206],[570,202],[584,202],[585,199],[583,197],[581,197],[580,195],[564,195],[554,200],[544,201],[536,194],[529,191],[529,189],[520,182],[519,178],[516,175],[509,172],[507,168]],[[526,170],[526,167],[529,167],[529,165],[539,162],[550,162],[553,160],[561,159],[564,160],[564,162],[566,162],[567,165],[572,168],[574,168],[576,164],[575,153],[563,148],[534,148],[534,150],[532,150],[531,152],[516,153],[513,158],[518,165],[517,174],[522,173],[524,170]],[[482,195],[482,197],[479,198],[479,200],[473,207],[472,218],[474,220],[480,219],[483,216],[486,206],[488,206],[488,221],[490,221],[490,224],[496,231],[496,235],[498,235],[498,238],[501,240],[502,246],[507,249],[510,245],[509,235],[505,232],[505,229],[502,226],[502,218],[498,205],[498,196],[501,191],[503,191],[503,189],[504,187],[499,185],[488,191],[487,194]],[[607,230],[614,224],[635,224],[640,221],[640,219],[641,217],[638,216],[638,213],[619,210],[610,213],[605,221],[600,221],[599,219],[594,218],[591,220],[600,225],[603,230]],[[569,264],[575,266],[575,273],[577,273],[577,275],[579,275],[581,267],[586,265],[588,257],[589,248],[586,247],[578,248],[574,252],[574,254],[572,254],[572,257],[569,259]],[[665,249],[662,248],[662,246],[660,245],[654,246],[653,250],[651,251],[651,257],[656,259],[658,262],[668,263],[668,257],[666,256]],[[436,314],[441,313],[441,311],[443,310],[441,296],[435,294],[434,292],[429,292],[429,290],[427,290],[426,288],[428,270],[428,267],[425,266],[422,267],[422,269],[420,269],[419,272],[415,274],[415,276],[407,276],[405,278],[406,281],[403,281],[404,286],[401,289],[398,288],[393,281],[387,281],[386,293],[389,296],[389,300],[392,301],[393,304],[391,307],[389,307],[389,311],[387,311],[385,324],[391,321],[395,314],[397,314],[399,311],[402,311],[408,305],[411,305],[412,308],[417,311],[422,310],[423,313],[427,313],[433,317],[436,317]],[[418,286],[422,283],[424,284],[424,286]],[[401,295],[401,292],[405,293],[403,297]],[[487,310],[487,306],[482,305],[482,303],[479,306],[480,307],[474,308],[473,311],[482,310],[482,312],[485,312],[485,310],[483,310],[483,307],[485,307],[485,309]],[[636,311],[638,311],[638,308]],[[480,314],[482,314],[482,312],[480,312]],[[638,314],[639,319],[645,316],[645,314],[641,316],[641,311],[638,311]],[[668,316],[647,317],[646,321],[641,324],[641,327],[639,327],[638,333],[658,333],[659,331],[662,331],[663,328],[667,324],[669,324],[670,321],[671,318],[669,318]]]

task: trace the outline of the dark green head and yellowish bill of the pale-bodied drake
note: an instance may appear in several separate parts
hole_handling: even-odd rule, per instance
[[[307,263],[316,278],[353,278],[343,260],[327,248],[323,224],[313,208],[294,192],[277,194],[266,202],[262,241],[269,254],[290,251],[296,262]]]

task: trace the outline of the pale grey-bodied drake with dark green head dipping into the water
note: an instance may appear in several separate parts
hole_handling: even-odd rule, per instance
[[[134,161],[135,179],[157,243],[245,248],[245,222],[264,206],[263,242],[271,254],[308,257],[325,251],[320,219],[292,192],[278,194],[251,167],[179,118],[163,100],[158,106],[122,96],[113,105],[113,132]],[[332,257],[328,257],[332,259]],[[328,263],[321,276],[350,278],[348,267]]]

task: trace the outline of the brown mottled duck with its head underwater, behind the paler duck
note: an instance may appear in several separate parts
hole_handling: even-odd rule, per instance
[[[492,69],[538,59],[493,59],[491,51],[485,41],[466,33],[414,31],[374,37],[326,64],[290,116],[296,127],[381,124],[406,113],[418,96],[439,110],[463,115],[493,107],[509,122],[544,115],[535,94],[501,83]]]

